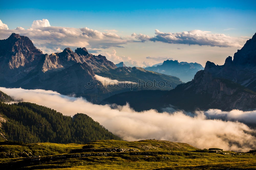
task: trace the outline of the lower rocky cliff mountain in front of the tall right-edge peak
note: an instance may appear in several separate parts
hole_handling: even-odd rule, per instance
[[[194,103],[200,109],[218,108],[224,111],[254,110],[256,108],[256,93],[227,79],[214,78],[210,72],[198,71],[191,82],[180,85],[177,91],[184,95],[199,97]],[[190,93],[190,94],[188,94]],[[178,105],[178,103],[177,103]],[[192,108],[192,106],[191,106]]]

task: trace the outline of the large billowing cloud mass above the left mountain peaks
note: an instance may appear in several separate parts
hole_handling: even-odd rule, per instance
[[[29,37],[37,48],[48,54],[60,52],[66,47],[86,47],[88,50],[100,51],[110,47],[123,47],[128,42],[114,33],[115,30],[105,33],[87,27],[53,27],[47,19],[35,20],[31,26],[29,29],[17,27],[8,30],[7,25],[0,21],[0,39],[8,38],[13,32],[18,33]]]

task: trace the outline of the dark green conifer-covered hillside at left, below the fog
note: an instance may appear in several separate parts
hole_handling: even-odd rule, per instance
[[[102,139],[121,140],[82,113],[70,117],[33,103],[0,102],[0,114],[1,131],[8,140],[27,143],[88,143]]]

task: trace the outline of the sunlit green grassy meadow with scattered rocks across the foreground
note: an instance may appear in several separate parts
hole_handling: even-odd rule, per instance
[[[133,151],[114,151],[120,148]],[[3,154],[7,151],[11,153],[25,152],[24,149],[27,152],[32,152],[33,157],[24,155],[23,157],[8,158]],[[109,150],[95,152],[96,149]],[[44,150],[45,152],[43,152]],[[255,153],[193,152],[195,150],[198,148],[186,143],[158,140],[135,142],[98,140],[86,145],[55,143],[1,145],[0,166],[3,169],[225,169],[256,167]],[[73,153],[74,151],[77,153]]]

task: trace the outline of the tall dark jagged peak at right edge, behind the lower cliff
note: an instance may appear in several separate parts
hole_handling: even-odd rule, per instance
[[[216,78],[225,78],[256,91],[256,33],[222,66],[207,62],[205,70]]]

